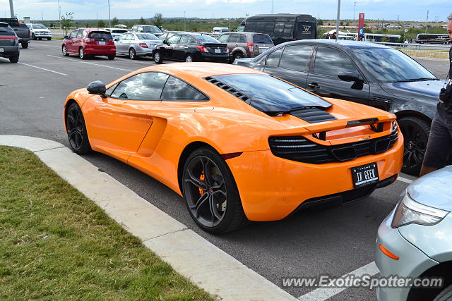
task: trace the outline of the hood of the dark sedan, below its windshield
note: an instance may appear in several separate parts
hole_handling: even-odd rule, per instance
[[[439,90],[444,85],[444,80],[422,80],[419,82],[383,82],[380,86],[388,94],[417,101],[427,100],[438,102]]]

